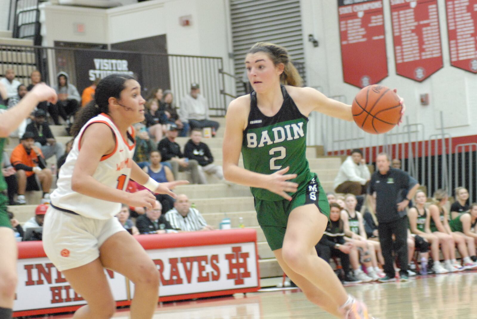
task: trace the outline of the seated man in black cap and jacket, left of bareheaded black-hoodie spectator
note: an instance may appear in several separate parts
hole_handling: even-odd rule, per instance
[[[162,160],[172,165],[172,174],[177,179],[178,172],[190,172],[193,184],[205,184],[199,171],[199,164],[196,160],[189,160],[180,151],[179,144],[176,143],[177,137],[177,125],[171,124],[166,133],[166,137],[163,138],[159,144],[157,144],[157,150],[161,153]]]

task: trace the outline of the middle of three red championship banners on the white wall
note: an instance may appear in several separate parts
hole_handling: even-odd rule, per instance
[[[437,0],[391,0],[396,73],[422,82],[443,67]]]

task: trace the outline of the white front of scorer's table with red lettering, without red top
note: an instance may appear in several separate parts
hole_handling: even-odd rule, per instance
[[[259,286],[255,242],[146,250],[160,273],[159,296]],[[14,311],[85,304],[46,257],[19,259]],[[105,270],[116,301],[134,296],[124,276]]]

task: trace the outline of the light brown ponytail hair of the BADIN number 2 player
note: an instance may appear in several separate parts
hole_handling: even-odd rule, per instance
[[[273,64],[283,64],[284,69],[280,74],[280,82],[285,85],[302,86],[303,80],[290,60],[288,51],[276,44],[269,42],[257,42],[248,53],[265,52],[269,55]]]

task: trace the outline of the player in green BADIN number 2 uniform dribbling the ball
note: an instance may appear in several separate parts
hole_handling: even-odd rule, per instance
[[[251,187],[270,248],[311,302],[337,318],[369,319],[366,306],[346,293],[330,265],[316,254],[330,206],[305,158],[309,114],[353,121],[351,105],[301,88],[287,51],[277,45],[255,44],[245,66],[254,91],[228,107],[225,178]],[[240,152],[245,169],[239,167]]]

